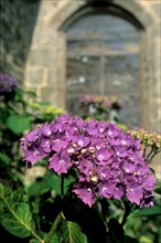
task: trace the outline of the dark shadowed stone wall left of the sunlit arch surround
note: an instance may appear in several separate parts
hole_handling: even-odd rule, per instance
[[[17,77],[21,83],[37,9],[39,0],[0,1],[0,72]]]

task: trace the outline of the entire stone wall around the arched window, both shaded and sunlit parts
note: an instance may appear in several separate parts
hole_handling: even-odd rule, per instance
[[[18,77],[25,87],[35,88],[40,98],[65,108],[66,39],[62,25],[74,21],[75,13],[80,17],[87,11],[89,2],[93,1],[1,0],[1,72]],[[142,126],[160,131],[161,1],[109,2],[129,12],[144,28],[141,45]]]

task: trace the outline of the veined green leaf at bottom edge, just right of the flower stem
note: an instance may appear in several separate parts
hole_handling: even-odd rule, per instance
[[[64,220],[61,225],[61,233],[64,243],[87,243],[87,237],[77,223]]]

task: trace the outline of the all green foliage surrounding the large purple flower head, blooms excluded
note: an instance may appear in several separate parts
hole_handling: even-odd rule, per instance
[[[115,104],[116,105],[116,104]],[[118,107],[112,106],[112,109]],[[98,201],[92,209],[71,193],[77,179],[71,169],[62,178],[45,170],[25,184],[20,138],[36,124],[50,123],[64,110],[47,102],[37,102],[33,91],[15,88],[1,99],[0,114],[0,224],[10,235],[29,243],[154,243],[161,242],[161,184],[155,188],[155,204],[138,209],[125,200]],[[97,106],[87,119],[109,120],[109,110]],[[118,116],[115,117],[121,129]],[[144,135],[144,133],[143,133]],[[155,142],[155,135],[143,137],[143,146]],[[154,138],[152,140],[151,138]],[[160,137],[159,137],[160,139]],[[154,146],[153,146],[154,148]],[[149,158],[153,154],[151,152]],[[44,159],[37,163],[46,168]],[[12,183],[8,183],[11,181]],[[11,186],[12,184],[12,186]],[[62,187],[63,186],[63,187]]]

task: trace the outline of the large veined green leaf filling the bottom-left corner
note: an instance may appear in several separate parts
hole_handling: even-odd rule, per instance
[[[11,234],[28,237],[34,233],[34,223],[26,196],[21,189],[12,191],[10,187],[0,183],[0,223]]]

